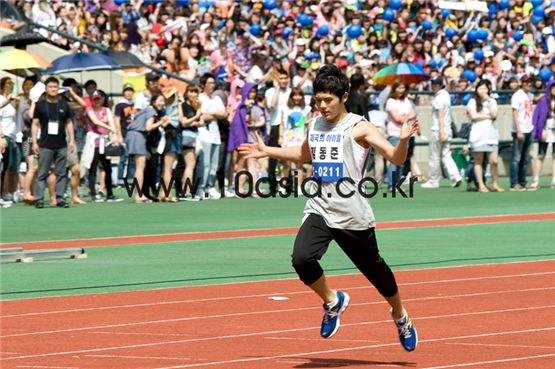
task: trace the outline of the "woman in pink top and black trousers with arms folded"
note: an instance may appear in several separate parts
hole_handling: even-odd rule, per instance
[[[112,165],[106,158],[104,149],[108,143],[108,134],[115,133],[114,117],[107,107],[104,107],[105,95],[103,92],[95,90],[91,94],[92,107],[86,111],[87,123],[87,142],[94,140],[94,156],[92,157],[91,166],[89,168],[89,190],[91,200],[94,202],[103,202],[104,199],[96,193],[96,171],[98,164],[102,165],[106,182],[106,199],[108,202],[119,202],[123,199],[118,198],[112,192]],[[112,143],[116,144],[116,135],[112,135]],[[88,144],[88,143],[87,143]],[[86,144],[86,145],[87,145]]]

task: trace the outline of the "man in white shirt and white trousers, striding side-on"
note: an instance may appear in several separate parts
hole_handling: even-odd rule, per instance
[[[462,177],[451,156],[451,145],[449,144],[449,139],[452,138],[451,97],[444,88],[443,78],[437,77],[432,80],[432,91],[434,100],[432,102],[432,134],[430,135],[428,160],[429,179],[422,184],[422,187],[439,188],[442,162],[453,182],[453,187],[459,187]]]

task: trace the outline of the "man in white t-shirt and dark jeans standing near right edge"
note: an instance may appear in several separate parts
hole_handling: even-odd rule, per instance
[[[524,75],[520,79],[520,89],[511,97],[513,112],[513,155],[509,176],[511,191],[526,190],[526,162],[532,143],[533,95],[530,93],[532,77]]]

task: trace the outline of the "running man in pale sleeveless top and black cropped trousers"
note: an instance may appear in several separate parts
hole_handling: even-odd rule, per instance
[[[364,175],[370,147],[390,162],[402,165],[408,140],[418,130],[418,122],[411,126],[405,122],[401,127],[401,142],[393,147],[374,125],[360,115],[347,113],[348,91],[347,76],[334,65],[323,66],[314,81],[316,107],[321,115],[313,121],[302,146],[270,147],[258,137],[258,143],[243,144],[239,151],[250,158],[312,162],[315,181],[310,182],[310,191],[307,190],[309,199],[293,247],[292,262],[301,281],[324,302],[321,336],[330,338],[337,332],[340,316],[350,300],[347,293],[328,286],[318,262],[329,243],[335,240],[389,303],[401,345],[413,351],[418,343],[416,329],[403,307],[395,277],[380,256],[374,214],[367,198],[359,192],[358,184]]]

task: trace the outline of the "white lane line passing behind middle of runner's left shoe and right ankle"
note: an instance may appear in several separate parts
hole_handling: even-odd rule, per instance
[[[494,295],[494,294],[505,294],[505,293],[518,293],[518,292],[527,292],[528,293],[528,292],[546,291],[546,290],[554,290],[554,289],[555,289],[555,287],[527,288],[527,289],[522,289],[522,290],[505,290],[505,291],[494,291],[494,292],[467,293],[467,294],[461,294],[461,295],[443,295],[443,296],[418,297],[418,298],[413,298],[413,299],[405,299],[404,301],[405,302],[418,302],[418,301],[430,301],[430,300],[444,300],[444,299],[452,299],[452,298],[491,296],[491,295]],[[351,306],[368,306],[368,305],[382,305],[382,304],[386,304],[386,302],[385,301],[373,301],[373,302],[362,302],[362,303],[357,303],[357,304],[351,303]],[[259,314],[290,313],[290,312],[307,311],[307,310],[314,310],[314,309],[320,309],[320,307],[311,306],[311,307],[281,309],[281,310],[247,311],[247,312],[243,312],[243,313],[200,315],[200,316],[174,318],[174,319],[147,320],[147,321],[134,322],[134,323],[121,323],[121,324],[80,327],[80,328],[58,329],[58,330],[51,330],[51,331],[37,331],[37,332],[9,334],[9,335],[0,336],[0,338],[5,339],[5,338],[10,338],[10,337],[35,336],[35,335],[43,335],[43,334],[78,332],[78,331],[87,331],[87,330],[94,330],[94,329],[131,327],[131,326],[147,325],[147,324],[175,323],[175,322],[183,322],[183,321],[191,321],[191,320],[229,318],[229,317],[239,317],[239,316],[248,316],[248,315],[259,315]]]

